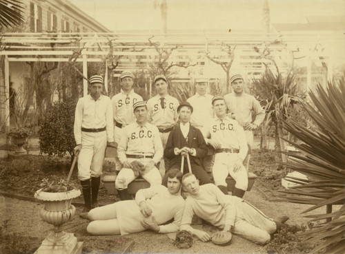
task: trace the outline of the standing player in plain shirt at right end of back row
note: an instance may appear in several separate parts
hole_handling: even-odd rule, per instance
[[[226,106],[228,107],[228,114],[231,118],[237,120],[239,125],[244,127],[244,134],[248,143],[248,154],[244,159],[244,166],[248,171],[250,154],[253,147],[253,130],[261,125],[265,118],[265,111],[262,109],[259,101],[244,92],[244,78],[241,74],[235,74],[230,77],[230,83],[233,87],[233,92],[224,96]],[[255,119],[253,120],[252,114]]]

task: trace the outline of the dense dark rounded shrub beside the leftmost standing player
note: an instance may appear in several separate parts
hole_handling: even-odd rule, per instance
[[[75,100],[55,103],[50,107],[39,130],[41,153],[55,156],[72,155],[75,147],[73,125],[75,121]]]

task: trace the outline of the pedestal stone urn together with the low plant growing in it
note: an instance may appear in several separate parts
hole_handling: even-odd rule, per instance
[[[81,192],[75,185],[64,179],[42,180],[41,189],[34,193],[34,198],[41,200],[44,207],[40,215],[43,221],[54,225],[52,233],[43,240],[37,253],[75,253],[76,248],[81,248],[81,243],[72,233],[62,231],[63,223],[68,222],[75,215],[75,206],[71,204],[73,198],[79,197]]]

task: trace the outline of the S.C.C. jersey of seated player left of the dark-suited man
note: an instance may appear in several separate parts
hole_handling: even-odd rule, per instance
[[[152,160],[157,164],[163,157],[163,145],[161,137],[155,125],[146,123],[140,126],[131,123],[124,127],[124,134],[121,136],[117,155],[121,163],[127,160],[126,154],[153,156]]]

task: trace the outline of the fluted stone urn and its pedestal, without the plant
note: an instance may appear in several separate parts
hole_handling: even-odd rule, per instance
[[[75,215],[75,206],[71,204],[73,198],[81,195],[79,189],[64,192],[46,192],[39,189],[34,193],[34,198],[43,202],[40,211],[41,218],[54,226],[53,231],[43,240],[37,249],[37,254],[70,254],[81,253],[82,242],[77,242],[77,237],[72,233],[62,230],[62,225]]]

